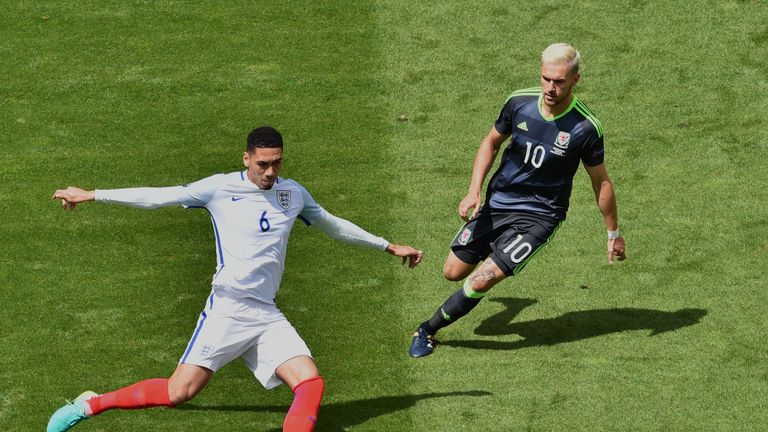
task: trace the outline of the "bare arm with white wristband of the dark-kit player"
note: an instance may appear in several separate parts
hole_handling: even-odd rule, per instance
[[[608,263],[613,260],[624,261],[627,258],[624,237],[619,234],[619,217],[616,208],[616,194],[613,191],[613,183],[605,169],[605,164],[593,167],[585,166],[589,178],[592,181],[592,189],[595,191],[597,207],[605,220],[608,230]]]

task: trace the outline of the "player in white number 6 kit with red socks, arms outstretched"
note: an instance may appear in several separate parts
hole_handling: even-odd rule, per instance
[[[175,407],[195,397],[214,372],[242,357],[266,389],[281,383],[294,393],[284,432],[312,431],[324,382],[311,353],[275,306],[288,235],[297,218],[334,239],[385,250],[415,267],[422,252],[374,236],[320,207],[304,187],[279,177],[283,139],[268,126],[248,135],[246,169],[189,185],[88,191],[57,190],[65,209],[100,201],[140,208],[183,205],[205,208],[216,237],[217,267],[195,331],[169,379],[144,380],[98,395],[81,394],[57,410],[48,432],[62,432],[110,409]]]

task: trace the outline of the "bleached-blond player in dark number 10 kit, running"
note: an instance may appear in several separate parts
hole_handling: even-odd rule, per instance
[[[565,220],[579,162],[605,220],[608,262],[626,258],[613,184],[603,163],[603,127],[573,93],[579,61],[570,45],[547,47],[541,56],[541,87],[512,93],[480,144],[469,191],[459,204],[459,216],[467,222],[443,267],[446,279],[464,280],[464,285],[421,323],[411,343],[412,357],[431,354],[438,330],[469,313],[488,290],[518,274],[549,242]],[[482,203],[483,182],[509,137]]]

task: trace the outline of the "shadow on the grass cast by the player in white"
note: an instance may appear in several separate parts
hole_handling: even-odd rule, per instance
[[[482,397],[490,396],[492,393],[487,391],[455,391],[445,393],[423,393],[407,396],[382,396],[371,399],[360,399],[347,402],[337,402],[323,404],[320,407],[319,421],[316,432],[330,432],[347,430],[366,421],[395,411],[404,410],[416,406],[416,403],[425,399],[436,399],[445,397]],[[259,406],[259,405],[223,405],[223,406],[199,406],[182,405],[176,409],[189,411],[249,411],[249,412],[269,412],[286,413],[287,405],[280,406]],[[275,429],[274,431],[280,431]]]

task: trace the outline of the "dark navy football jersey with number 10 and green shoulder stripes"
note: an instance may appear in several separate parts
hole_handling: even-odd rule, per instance
[[[554,118],[545,118],[540,104],[537,87],[512,93],[501,109],[496,130],[511,138],[485,202],[493,209],[565,219],[579,162],[603,163],[603,128],[576,95]]]

